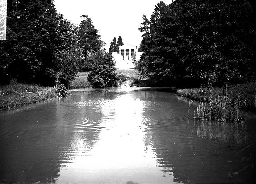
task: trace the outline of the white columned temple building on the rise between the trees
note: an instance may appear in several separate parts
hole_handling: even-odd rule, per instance
[[[118,52],[112,52],[112,57],[119,70],[135,68],[134,61],[140,60],[143,52],[137,52],[137,46],[125,44],[119,47]]]

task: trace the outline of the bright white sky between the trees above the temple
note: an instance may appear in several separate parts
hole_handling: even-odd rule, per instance
[[[92,19],[108,51],[113,37],[121,35],[124,44],[139,46],[142,40],[138,30],[142,15],[148,19],[160,0],[54,0],[56,9],[73,24],[81,22],[82,14]],[[171,0],[162,0],[170,4]]]

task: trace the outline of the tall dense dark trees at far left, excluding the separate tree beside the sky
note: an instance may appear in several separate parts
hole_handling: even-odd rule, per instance
[[[59,67],[67,64],[61,53],[70,52],[76,45],[75,32],[75,27],[58,14],[52,0],[8,1],[7,40],[0,45],[1,82],[15,78],[50,85]],[[76,59],[71,62],[79,63]],[[62,71],[63,75],[76,72]]]

